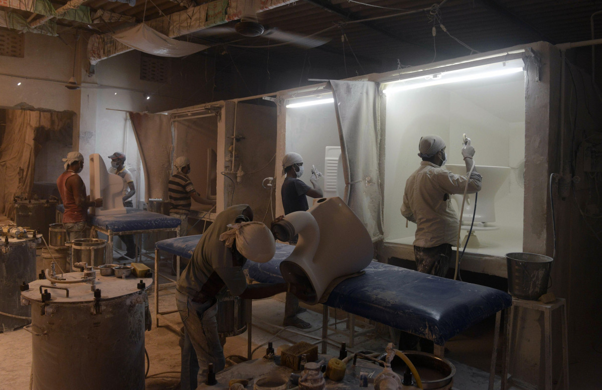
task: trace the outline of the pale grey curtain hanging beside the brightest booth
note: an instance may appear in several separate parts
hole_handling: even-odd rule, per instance
[[[344,201],[364,223],[373,241],[382,240],[380,120],[378,85],[330,81],[335,101],[345,179]]]

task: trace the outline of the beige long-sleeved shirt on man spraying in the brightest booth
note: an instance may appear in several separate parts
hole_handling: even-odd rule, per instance
[[[456,245],[459,220],[450,194],[464,194],[467,181],[467,176],[455,175],[429,161],[422,161],[410,175],[403,193],[402,215],[417,224],[415,246]],[[469,182],[469,194],[480,191],[479,173],[473,172]]]

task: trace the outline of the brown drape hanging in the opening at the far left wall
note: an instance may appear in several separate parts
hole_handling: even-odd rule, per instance
[[[36,155],[48,140],[72,140],[70,111],[7,110],[0,146],[0,214],[14,218],[15,196],[29,194],[34,184]]]

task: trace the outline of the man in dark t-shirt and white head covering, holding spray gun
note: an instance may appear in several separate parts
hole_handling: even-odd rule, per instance
[[[307,197],[321,198],[323,193],[318,184],[316,172],[312,172],[309,182],[314,188],[309,187],[299,178],[303,176],[303,157],[299,153],[290,152],[284,155],[282,159],[282,175],[286,175],[282,182],[282,206],[284,206],[284,214],[290,214],[294,211],[308,211],[309,205]],[[289,244],[296,244],[298,237],[296,236]],[[299,307],[299,299],[292,293],[287,292],[287,297],[284,305],[284,321],[283,326],[295,326],[300,329],[308,329],[311,324],[297,317],[297,314],[306,311],[305,308]]]

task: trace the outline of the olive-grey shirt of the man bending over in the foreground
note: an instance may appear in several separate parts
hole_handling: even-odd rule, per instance
[[[217,215],[194,249],[190,262],[178,279],[178,291],[193,299],[216,297],[227,287],[232,296],[238,296],[247,288],[243,273],[244,259],[237,261],[232,249],[220,241],[220,235],[228,231],[248,205],[231,206]]]

